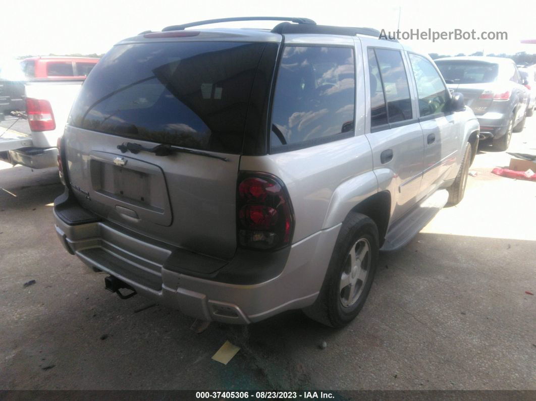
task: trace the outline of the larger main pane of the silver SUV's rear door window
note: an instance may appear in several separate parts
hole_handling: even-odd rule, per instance
[[[411,119],[410,87],[402,55],[398,50],[375,49],[383,89],[387,98],[389,123]]]

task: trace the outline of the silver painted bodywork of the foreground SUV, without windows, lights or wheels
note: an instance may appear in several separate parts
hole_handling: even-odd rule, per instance
[[[180,40],[281,40],[281,35],[265,31],[200,31],[200,36]],[[162,39],[174,40],[177,39]],[[143,41],[137,36],[124,42]],[[360,202],[380,191],[388,191],[391,196],[391,224],[406,216],[427,194],[456,176],[461,162],[462,152],[459,149],[468,136],[478,130],[478,122],[470,109],[419,122],[411,67],[401,44],[364,36],[296,34],[286,35],[285,43],[354,46],[356,118],[352,137],[262,156],[214,153],[229,159],[223,162],[188,154],[158,157],[140,153],[124,156],[113,150],[123,138],[68,126],[65,149],[70,179],[89,194],[86,196],[75,191],[82,206],[90,207],[95,196],[97,199],[110,196],[102,194],[102,188],[95,188],[92,184],[98,180],[91,178],[92,173],[95,175],[91,163],[97,160],[114,166],[116,157],[124,157],[125,163],[124,166],[115,165],[115,168],[128,169],[129,165],[136,163],[142,166],[151,178],[140,178],[140,182],[151,187],[151,193],[160,191],[162,199],[134,204],[130,198],[125,200],[114,194],[113,203],[118,208],[91,205],[105,218],[100,223],[69,226],[56,216],[56,231],[64,246],[88,266],[116,275],[145,296],[198,319],[255,322],[286,309],[309,306],[315,301],[341,224]],[[411,124],[370,132],[368,46],[403,52],[416,118]],[[435,145],[427,147],[426,136],[431,132],[435,132],[438,138]],[[155,145],[152,142],[136,142],[145,147]],[[380,155],[385,149],[392,149],[394,157],[382,164]],[[103,156],[105,154],[108,156]],[[110,176],[113,179],[119,179],[117,171],[108,167],[105,170],[113,175]],[[173,247],[217,258],[232,258],[236,249],[235,193],[239,170],[271,173],[287,187],[295,213],[295,229],[282,273],[260,284],[237,285],[166,269],[164,262]],[[102,179],[106,181],[106,177]],[[135,195],[133,191],[131,197]],[[147,238],[146,243],[140,242],[139,237],[115,229],[115,225]],[[106,260],[113,262],[105,263]],[[143,279],[136,281],[128,275],[122,276],[121,269],[129,266],[137,266],[140,274],[146,275],[148,284],[144,284]],[[159,289],[153,289],[151,283],[156,283],[156,287],[160,285]]]

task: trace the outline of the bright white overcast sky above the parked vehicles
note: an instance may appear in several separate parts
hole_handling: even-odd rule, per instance
[[[2,7],[0,60],[23,55],[101,54],[125,37],[185,22],[240,16],[307,17],[317,24],[363,26],[386,32],[461,29],[508,33],[508,40],[408,40],[414,50],[438,54],[475,51],[536,53],[536,2],[518,1],[337,1],[337,0],[25,0],[16,11]],[[6,10],[8,10],[6,12]],[[8,13],[12,13],[12,18]],[[400,21],[399,21],[400,14]],[[233,27],[273,27],[274,22],[233,22]],[[223,25],[211,25],[216,27]]]

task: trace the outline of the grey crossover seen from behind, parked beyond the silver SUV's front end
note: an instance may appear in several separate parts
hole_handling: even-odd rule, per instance
[[[480,139],[506,150],[513,132],[525,126],[529,100],[513,60],[502,57],[444,57],[435,60],[449,89],[464,95],[480,123]]]

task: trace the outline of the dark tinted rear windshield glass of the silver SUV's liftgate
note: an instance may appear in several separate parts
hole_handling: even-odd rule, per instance
[[[70,124],[123,137],[240,153],[263,43],[116,46],[88,75]]]

